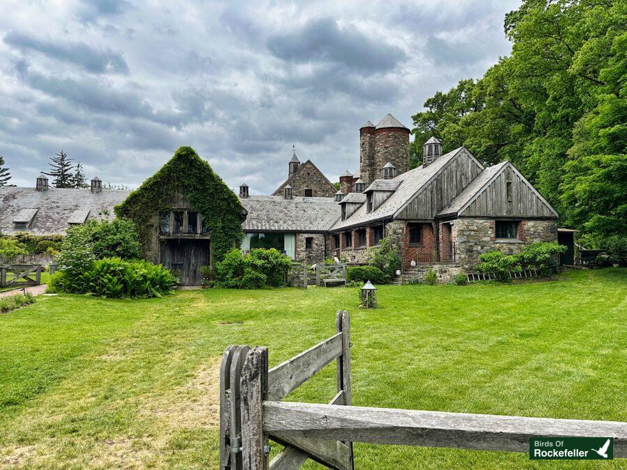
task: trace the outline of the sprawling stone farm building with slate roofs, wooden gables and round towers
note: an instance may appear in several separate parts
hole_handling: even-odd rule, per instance
[[[511,162],[486,168],[465,147],[442,155],[442,143],[431,138],[424,143],[424,164],[410,170],[409,134],[391,114],[378,125],[368,121],[359,130],[359,169],[340,176],[339,190],[295,152],[288,178],[272,196],[250,196],[242,184],[241,249],[273,247],[309,264],[332,256],[363,263],[367,249],[391,235],[403,269],[436,267],[446,276],[474,269],[486,251],[514,253],[532,242],[557,241],[557,212]],[[40,177],[36,187],[0,187],[1,233],[63,233],[89,217],[111,217],[129,191],[102,191],[99,183],[95,178],[91,189],[54,189]],[[185,239],[195,249],[210,233],[183,202],[173,201],[167,233],[155,237],[176,246]],[[172,228],[176,217],[183,217],[180,234]],[[162,250],[155,259],[176,256]],[[197,277],[194,269],[190,279]]]

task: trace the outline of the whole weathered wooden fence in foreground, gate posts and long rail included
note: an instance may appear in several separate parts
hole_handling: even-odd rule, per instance
[[[353,442],[528,452],[529,438],[613,437],[627,457],[627,423],[426,412],[351,406],[350,323],[337,313],[337,334],[268,370],[268,348],[229,346],[220,370],[220,469],[299,469],[311,458],[353,469]],[[329,405],[282,402],[337,360],[337,395]],[[268,441],[286,446],[268,463]]]

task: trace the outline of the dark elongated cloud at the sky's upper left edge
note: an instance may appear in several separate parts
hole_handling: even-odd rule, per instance
[[[37,39],[31,35],[15,31],[4,36],[4,42],[22,52],[39,52],[58,61],[79,65],[87,72],[118,72],[123,74],[129,72],[122,54],[112,52],[109,49],[96,49],[84,42],[54,42]]]

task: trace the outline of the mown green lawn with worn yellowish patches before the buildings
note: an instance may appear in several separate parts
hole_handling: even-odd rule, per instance
[[[382,286],[372,311],[348,288],[40,297],[0,316],[0,465],[216,468],[224,347],[268,345],[274,366],[331,336],[338,308],[352,315],[355,405],[627,421],[626,288],[610,268]],[[288,399],[327,402],[334,384],[330,366]],[[366,444],[355,456],[358,469],[594,464]]]

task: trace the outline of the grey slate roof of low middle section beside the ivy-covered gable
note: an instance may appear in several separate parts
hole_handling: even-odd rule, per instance
[[[242,230],[246,232],[323,232],[340,217],[334,198],[286,199],[283,196],[250,196],[240,202],[248,211]]]

